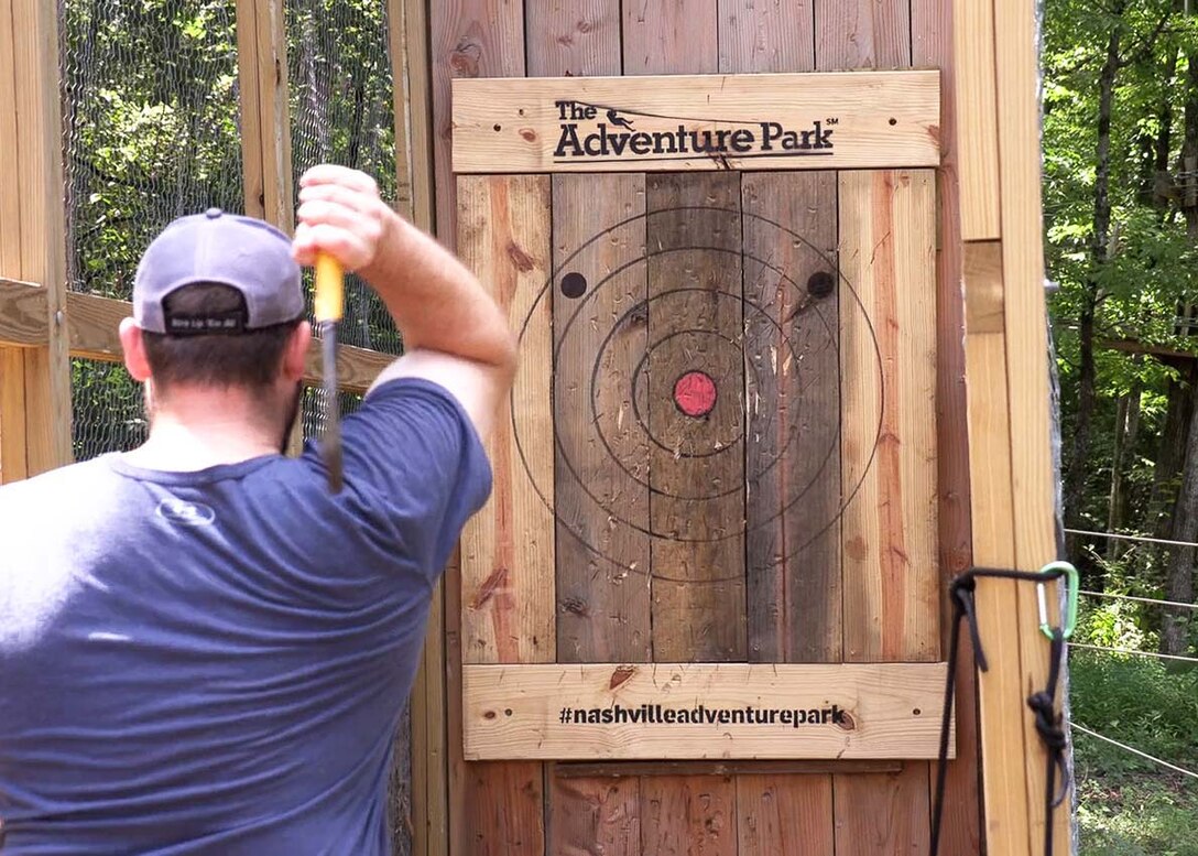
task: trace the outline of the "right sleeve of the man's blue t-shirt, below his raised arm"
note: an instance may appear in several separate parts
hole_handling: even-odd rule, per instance
[[[461,404],[420,378],[379,386],[341,424],[345,493],[364,529],[436,578],[466,522],[490,496],[491,464]],[[304,459],[323,471],[320,448]]]

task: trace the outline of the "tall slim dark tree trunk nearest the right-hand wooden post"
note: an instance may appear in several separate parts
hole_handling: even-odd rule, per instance
[[[1099,270],[1106,264],[1111,240],[1111,116],[1114,108],[1115,78],[1119,73],[1119,46],[1123,38],[1125,4],[1115,4],[1117,24],[1107,40],[1107,59],[1099,76],[1099,134],[1094,179],[1094,236],[1090,243],[1093,272],[1087,281],[1078,317],[1079,369],[1077,379],[1077,414],[1073,422],[1073,447],[1065,476],[1065,514],[1072,529],[1084,529],[1083,512],[1085,477],[1090,470],[1090,434],[1095,405],[1094,320],[1099,306]],[[1081,548],[1076,539],[1070,549],[1073,563],[1081,563]]]

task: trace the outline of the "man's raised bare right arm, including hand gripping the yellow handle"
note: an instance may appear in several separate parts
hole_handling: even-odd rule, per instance
[[[362,173],[315,167],[301,179],[300,201],[296,259],[310,265],[317,251],[331,253],[379,293],[404,337],[404,356],[370,388],[397,378],[431,380],[486,436],[515,376],[516,342],[478,279],[383,203]]]

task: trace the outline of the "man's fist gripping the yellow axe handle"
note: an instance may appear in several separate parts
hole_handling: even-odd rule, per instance
[[[317,251],[323,251],[346,271],[357,272],[391,240],[397,219],[365,173],[334,164],[313,167],[300,179],[292,254],[301,265],[313,265]]]

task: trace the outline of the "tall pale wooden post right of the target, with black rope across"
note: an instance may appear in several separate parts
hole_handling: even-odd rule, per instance
[[[1055,538],[1036,12],[1004,0],[957,0],[954,12],[974,561],[1037,571],[1055,559]],[[980,581],[978,621],[990,661],[979,679],[987,852],[1039,854],[1046,758],[1025,699],[1045,686],[1049,649],[1035,589]],[[1070,804],[1054,813],[1057,852],[1067,852]]]

